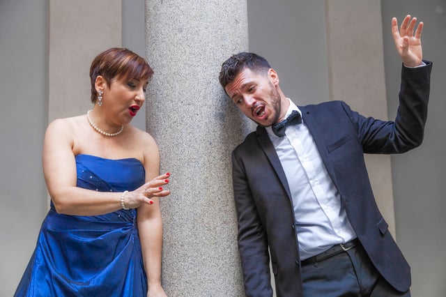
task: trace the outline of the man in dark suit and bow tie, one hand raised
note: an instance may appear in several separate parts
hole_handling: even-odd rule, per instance
[[[410,296],[410,267],[378,211],[363,154],[422,143],[431,62],[415,24],[408,15],[398,29],[392,19],[403,61],[394,121],[340,101],[297,107],[256,54],[223,63],[224,91],[259,124],[232,154],[247,296],[272,296],[270,257],[277,296]]]

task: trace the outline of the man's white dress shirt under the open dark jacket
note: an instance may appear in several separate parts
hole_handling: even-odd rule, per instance
[[[289,101],[285,119],[293,110],[300,112]],[[300,259],[307,259],[328,250],[334,244],[356,238],[346,210],[341,206],[339,192],[323,165],[304,121],[299,125],[289,125],[284,137],[277,137],[271,127],[266,130],[291,191]]]

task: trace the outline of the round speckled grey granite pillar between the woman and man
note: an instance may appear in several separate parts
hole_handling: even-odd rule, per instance
[[[247,50],[245,1],[146,1],[146,128],[161,172],[162,284],[168,296],[244,296],[231,151],[252,129],[224,96],[222,62]]]

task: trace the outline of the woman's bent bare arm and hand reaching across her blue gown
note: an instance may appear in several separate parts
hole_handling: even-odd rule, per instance
[[[97,192],[77,188],[76,161],[72,151],[76,118],[58,119],[49,124],[43,143],[43,173],[49,196],[58,213],[101,215],[121,208],[122,192]],[[160,192],[161,181],[151,181],[125,195],[125,206],[137,208],[150,204],[144,190]]]

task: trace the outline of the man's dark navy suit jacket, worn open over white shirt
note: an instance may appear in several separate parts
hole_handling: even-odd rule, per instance
[[[379,273],[398,291],[410,287],[410,267],[371,190],[364,153],[403,153],[420,146],[432,63],[403,67],[394,121],[366,118],[345,102],[299,107],[357,237]],[[247,296],[272,296],[268,245],[277,296],[302,296],[298,237],[289,185],[264,128],[232,154],[238,247]]]

